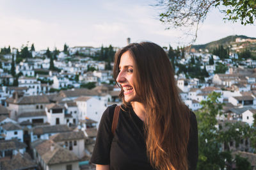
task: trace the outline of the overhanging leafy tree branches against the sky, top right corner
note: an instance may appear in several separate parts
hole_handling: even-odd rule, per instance
[[[223,10],[220,10],[226,15],[223,19],[241,21],[242,25],[253,24],[256,17],[255,0],[158,0],[156,6],[163,10],[159,14],[159,19],[168,25],[167,29],[196,26],[196,33],[198,24],[204,22],[212,8],[223,6]]]

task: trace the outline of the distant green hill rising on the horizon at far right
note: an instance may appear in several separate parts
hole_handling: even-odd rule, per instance
[[[227,36],[225,38],[221,38],[220,40],[214,41],[214,42],[209,42],[209,43],[205,43],[202,45],[192,45],[191,49],[195,49],[195,50],[213,50],[214,48],[218,47],[218,45],[223,45],[223,47],[227,48],[227,47],[232,47],[234,44],[240,45],[241,43],[245,43],[245,42],[236,42],[236,38],[241,38],[241,40],[243,39],[250,39],[250,40],[255,40],[255,46],[256,47],[256,38],[252,38],[252,37],[248,37],[248,36],[244,36],[244,35],[232,35],[232,36]],[[254,42],[254,41],[253,41]],[[252,46],[252,45],[250,45]],[[244,47],[246,47],[246,45],[244,45]]]

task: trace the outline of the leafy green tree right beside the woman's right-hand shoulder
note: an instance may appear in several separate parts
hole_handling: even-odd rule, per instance
[[[244,123],[218,123],[216,116],[223,115],[223,104],[218,102],[220,96],[220,93],[212,92],[206,101],[200,102],[202,108],[195,112],[198,121],[197,169],[231,169],[232,163],[238,163],[239,167],[241,159],[232,162],[227,143],[237,141],[239,144],[241,139],[252,135],[252,128]]]

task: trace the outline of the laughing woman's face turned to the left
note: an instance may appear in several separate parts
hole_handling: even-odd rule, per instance
[[[136,102],[138,96],[134,89],[134,77],[133,77],[134,61],[130,56],[129,52],[122,54],[119,63],[119,73],[116,81],[122,86],[124,90],[125,102]]]

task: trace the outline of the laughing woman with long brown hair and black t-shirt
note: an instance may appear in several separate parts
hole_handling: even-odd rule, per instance
[[[124,104],[115,135],[116,105],[102,115],[91,159],[96,169],[195,169],[196,118],[180,100],[166,52],[132,43],[116,52],[113,75]]]

